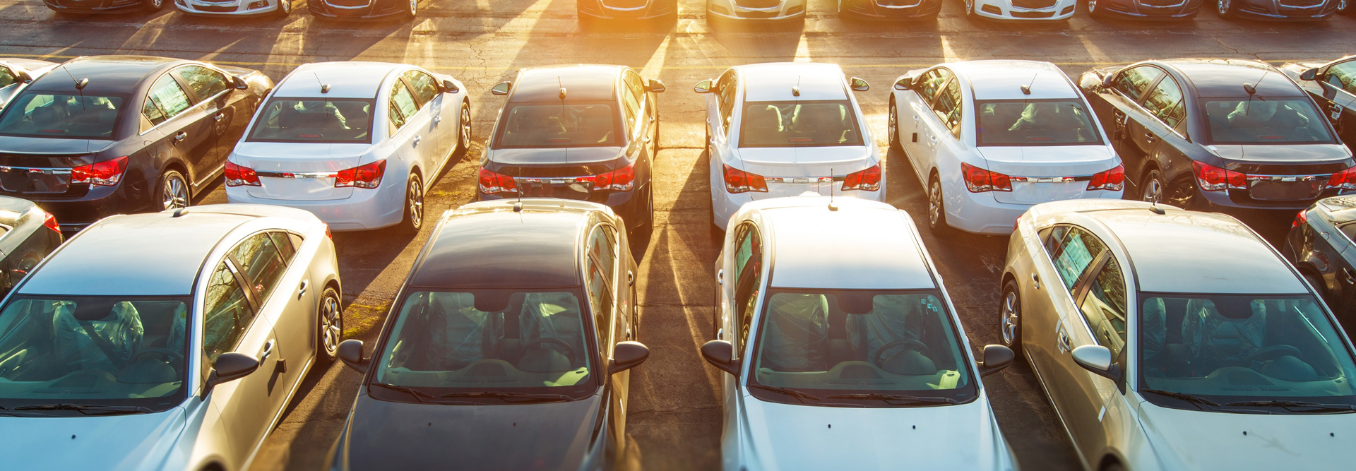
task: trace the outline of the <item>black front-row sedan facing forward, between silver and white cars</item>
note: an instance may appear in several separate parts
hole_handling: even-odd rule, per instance
[[[598,470],[626,449],[636,262],[591,202],[442,216],[396,295],[330,470]]]

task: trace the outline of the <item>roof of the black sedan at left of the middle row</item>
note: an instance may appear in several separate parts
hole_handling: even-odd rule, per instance
[[[149,56],[76,57],[34,80],[28,90],[75,94],[76,81],[89,79],[79,92],[119,95],[133,91],[146,75],[175,62],[190,61]]]

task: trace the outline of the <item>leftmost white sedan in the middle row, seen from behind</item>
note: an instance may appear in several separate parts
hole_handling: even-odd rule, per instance
[[[471,141],[456,79],[320,62],[278,83],[226,162],[226,200],[309,210],[335,231],[423,225],[423,195]]]

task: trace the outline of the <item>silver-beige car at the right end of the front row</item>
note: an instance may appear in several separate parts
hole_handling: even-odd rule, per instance
[[[1036,205],[1017,220],[1002,284],[1003,342],[1025,353],[1085,468],[1351,466],[1352,343],[1238,220]]]

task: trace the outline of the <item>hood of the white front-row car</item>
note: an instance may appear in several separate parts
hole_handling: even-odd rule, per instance
[[[1008,445],[989,400],[959,406],[854,409],[743,398],[751,470],[994,470]]]

